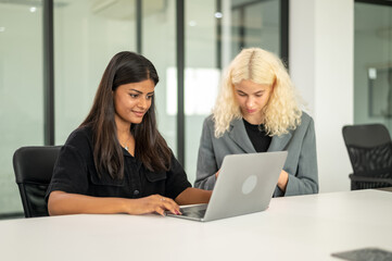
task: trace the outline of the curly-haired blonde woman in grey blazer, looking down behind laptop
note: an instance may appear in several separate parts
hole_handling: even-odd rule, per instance
[[[213,114],[204,121],[194,186],[213,189],[227,154],[281,150],[288,158],[274,197],[318,192],[312,117],[299,108],[280,59],[244,49],[229,65]]]

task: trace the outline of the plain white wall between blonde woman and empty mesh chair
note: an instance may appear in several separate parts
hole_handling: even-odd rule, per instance
[[[290,73],[315,120],[320,192],[350,189],[354,0],[290,1]]]

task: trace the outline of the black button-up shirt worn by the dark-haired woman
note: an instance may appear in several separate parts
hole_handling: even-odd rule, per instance
[[[108,173],[98,176],[93,162],[92,132],[88,127],[74,130],[62,147],[54,165],[46,199],[51,191],[61,190],[93,197],[142,198],[154,194],[175,199],[191,187],[187,175],[172,156],[170,170],[151,172],[125,149],[124,178],[113,179]]]

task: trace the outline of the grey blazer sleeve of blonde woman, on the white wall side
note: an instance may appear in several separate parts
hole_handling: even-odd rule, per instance
[[[305,132],[296,173],[289,173],[284,196],[318,192],[316,136],[313,120]]]

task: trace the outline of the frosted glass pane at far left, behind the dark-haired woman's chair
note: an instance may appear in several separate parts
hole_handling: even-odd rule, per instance
[[[43,144],[41,1],[0,2],[0,215],[22,212],[12,156]]]

